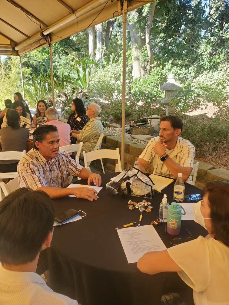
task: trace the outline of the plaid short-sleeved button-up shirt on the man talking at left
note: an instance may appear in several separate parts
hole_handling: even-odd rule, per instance
[[[18,181],[20,187],[33,190],[42,186],[63,188],[68,184],[68,175],[78,176],[82,168],[66,152],[59,151],[56,158],[47,161],[38,150],[31,149],[18,163]]]

